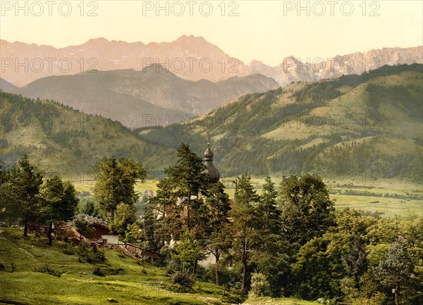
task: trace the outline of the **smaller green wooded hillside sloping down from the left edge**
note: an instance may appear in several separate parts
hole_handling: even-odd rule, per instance
[[[104,156],[133,158],[147,169],[166,163],[166,158],[155,154],[154,145],[135,137],[121,123],[53,101],[4,92],[0,100],[0,159],[6,165],[26,153],[47,176],[59,173],[66,179],[85,180]]]

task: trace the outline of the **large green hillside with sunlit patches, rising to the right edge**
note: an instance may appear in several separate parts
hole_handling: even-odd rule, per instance
[[[211,142],[226,175],[322,173],[421,181],[423,66],[246,94],[197,120],[137,130],[161,147]],[[345,179],[344,179],[345,180]]]

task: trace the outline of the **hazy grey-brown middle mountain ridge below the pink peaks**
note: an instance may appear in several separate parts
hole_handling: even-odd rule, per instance
[[[118,120],[131,129],[188,120],[243,94],[277,87],[273,78],[259,74],[219,82],[183,80],[155,64],[140,71],[44,77],[21,88],[0,80],[4,92],[59,101],[84,113]]]

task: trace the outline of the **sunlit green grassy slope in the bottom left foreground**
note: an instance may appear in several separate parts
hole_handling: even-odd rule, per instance
[[[242,301],[240,294],[223,287],[197,282],[189,293],[181,293],[171,283],[166,269],[145,263],[141,266],[117,251],[106,249],[106,261],[92,265],[79,263],[78,256],[63,254],[66,244],[30,235],[22,230],[0,228],[0,304],[224,304]],[[13,266],[13,267],[12,267]],[[48,266],[61,277],[35,272]],[[92,274],[99,267],[105,276]],[[13,272],[12,272],[13,268]]]

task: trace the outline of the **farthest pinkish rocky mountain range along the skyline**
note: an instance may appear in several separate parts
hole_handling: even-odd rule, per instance
[[[203,37],[192,35],[183,35],[173,42],[149,44],[97,38],[60,49],[0,39],[0,54],[1,77],[18,87],[52,75],[74,75],[87,70],[142,70],[152,64],[162,64],[185,80],[218,82],[258,73],[284,86],[290,82],[360,74],[385,65],[423,63],[423,46],[416,46],[376,49],[333,58],[288,56],[274,67],[260,61],[245,64]]]

